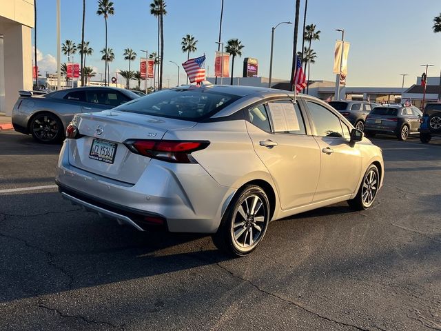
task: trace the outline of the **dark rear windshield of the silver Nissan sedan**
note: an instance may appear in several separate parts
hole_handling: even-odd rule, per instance
[[[236,95],[209,90],[164,90],[130,101],[114,110],[198,121],[212,116],[237,99],[239,97]]]

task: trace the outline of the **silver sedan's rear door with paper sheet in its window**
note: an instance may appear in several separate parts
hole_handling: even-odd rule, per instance
[[[320,172],[320,152],[306,130],[298,103],[271,101],[246,111],[249,137],[276,185],[281,208],[311,203]]]

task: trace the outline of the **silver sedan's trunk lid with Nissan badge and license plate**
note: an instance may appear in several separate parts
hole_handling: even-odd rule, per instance
[[[115,110],[80,114],[76,117],[76,126],[83,137],[68,141],[69,163],[103,177],[134,184],[147,168],[150,158],[132,153],[124,141],[161,140],[169,130],[195,125],[192,121]]]

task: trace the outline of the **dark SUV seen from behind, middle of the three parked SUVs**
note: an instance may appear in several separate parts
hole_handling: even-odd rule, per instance
[[[414,106],[384,105],[373,108],[366,119],[365,134],[374,137],[377,133],[394,134],[406,140],[409,134],[418,133],[422,112]]]

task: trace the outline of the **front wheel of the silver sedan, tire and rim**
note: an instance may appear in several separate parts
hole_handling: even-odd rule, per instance
[[[367,210],[371,208],[377,197],[378,184],[380,184],[378,168],[376,165],[371,164],[367,168],[365,176],[363,176],[356,197],[347,201],[349,207],[353,210]]]

